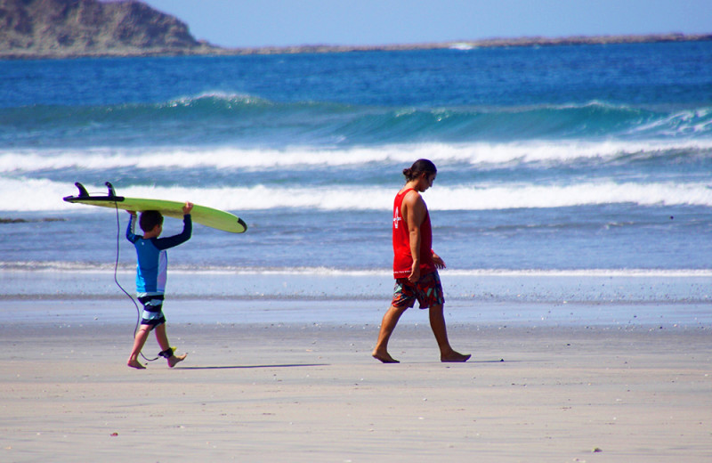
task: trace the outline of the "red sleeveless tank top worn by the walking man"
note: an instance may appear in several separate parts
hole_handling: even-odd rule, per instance
[[[403,217],[401,205],[409,191],[398,193],[393,200],[393,277],[408,278],[413,266],[413,257],[410,256],[410,233],[408,223]],[[430,226],[430,214],[425,208],[425,218],[420,224],[420,274],[433,272],[433,230]]]

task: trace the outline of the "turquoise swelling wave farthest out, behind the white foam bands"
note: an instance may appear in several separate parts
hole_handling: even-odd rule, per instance
[[[150,125],[147,133],[145,127]],[[110,136],[109,136],[110,135]],[[712,109],[661,110],[609,102],[538,106],[368,107],[276,102],[206,92],[166,102],[0,109],[0,141],[166,144],[180,140],[353,145],[538,139],[712,138]],[[128,138],[126,138],[128,137]],[[50,139],[50,141],[48,141]]]

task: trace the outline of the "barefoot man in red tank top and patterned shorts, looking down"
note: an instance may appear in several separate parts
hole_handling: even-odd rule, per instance
[[[430,310],[430,326],[440,347],[441,361],[468,361],[469,354],[457,353],[449,345],[442,306],[445,299],[438,269],[445,268],[431,248],[433,232],[430,215],[420,193],[431,186],[437,168],[428,159],[418,159],[403,169],[406,184],[393,201],[393,277],[395,288],[391,307],[384,315],[372,355],[384,363],[399,363],[388,353],[388,340],[401,315],[415,305]]]

